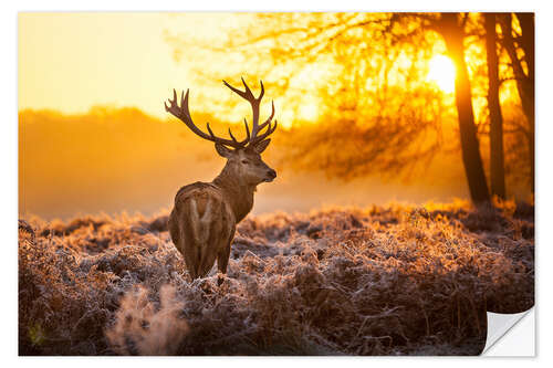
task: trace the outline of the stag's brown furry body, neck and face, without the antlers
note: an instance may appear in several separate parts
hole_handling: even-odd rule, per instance
[[[257,186],[275,177],[254,149],[218,151],[228,159],[221,174],[180,188],[169,217],[170,236],[192,278],[206,276],[216,259],[227,273],[237,223],[251,211]]]

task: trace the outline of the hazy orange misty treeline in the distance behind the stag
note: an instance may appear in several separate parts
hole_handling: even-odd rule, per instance
[[[194,113],[194,118],[199,125],[210,122],[216,133],[223,134],[228,127],[206,114]],[[241,137],[243,127],[231,127]],[[279,179],[260,187],[257,213],[305,211],[330,203],[364,206],[467,196],[462,168],[451,165],[446,154],[437,155],[430,167],[408,177],[386,175],[383,180],[372,176],[347,182],[291,160],[294,147],[324,149],[309,138],[315,127],[279,127],[264,154],[278,169]],[[355,146],[338,148],[349,150]],[[94,107],[80,115],[28,109],[19,114],[21,215],[52,219],[124,210],[153,213],[170,206],[181,186],[211,180],[222,165],[211,144],[197,139],[181,123],[161,120],[137,108]]]

